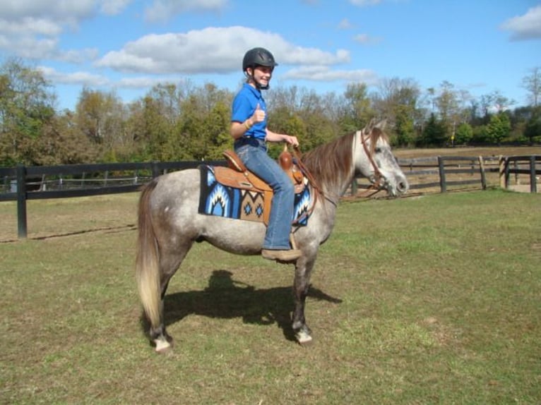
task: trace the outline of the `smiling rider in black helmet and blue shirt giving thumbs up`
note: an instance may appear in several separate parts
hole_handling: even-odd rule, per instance
[[[297,137],[275,133],[267,128],[267,106],[261,90],[268,89],[274,67],[278,64],[267,49],[250,49],[242,60],[246,83],[233,99],[230,133],[246,168],[273,188],[274,196],[268,219],[263,258],[290,262],[301,252],[290,248],[291,222],[295,191],[280,165],[267,154],[266,142],[287,142],[298,146]]]

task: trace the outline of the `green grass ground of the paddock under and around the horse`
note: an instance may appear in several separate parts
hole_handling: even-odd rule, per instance
[[[541,402],[540,195],[342,203],[308,347],[291,267],[198,244],[166,298],[168,356],[139,321],[136,198],[32,201],[29,239],[0,234],[0,403]]]

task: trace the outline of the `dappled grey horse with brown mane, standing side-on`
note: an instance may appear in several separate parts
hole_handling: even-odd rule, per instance
[[[317,183],[311,187],[319,191],[307,224],[292,224],[296,248],[302,251],[294,263],[292,331],[304,345],[312,341],[304,317],[310,277],[319,246],[333,231],[338,200],[359,175],[391,197],[403,195],[409,186],[381,122],[369,123],[361,131],[342,135],[300,156],[304,169]],[[150,325],[148,337],[158,353],[172,347],[163,315],[167,286],[194,242],[206,241],[239,255],[261,254],[265,224],[199,214],[200,186],[200,171],[184,169],[157,176],[141,189],[136,282],[143,316]]]

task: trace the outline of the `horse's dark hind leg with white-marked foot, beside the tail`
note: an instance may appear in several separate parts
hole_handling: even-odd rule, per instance
[[[150,339],[154,341],[156,351],[159,353],[169,351],[173,344],[173,338],[165,330],[164,300],[167,286],[169,286],[171,278],[180,267],[182,260],[186,257],[191,245],[192,242],[186,243],[180,251],[178,248],[171,251],[167,251],[166,249],[160,250],[160,325],[150,326]]]

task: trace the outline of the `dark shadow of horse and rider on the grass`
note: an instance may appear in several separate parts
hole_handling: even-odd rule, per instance
[[[342,302],[312,286],[308,296],[319,301]],[[249,324],[276,323],[286,339],[295,341],[290,316],[293,307],[291,286],[256,289],[235,281],[232,273],[227,270],[215,270],[208,280],[208,287],[203,291],[185,291],[165,296],[165,325],[171,325],[192,314],[209,318],[242,318],[243,322]]]

